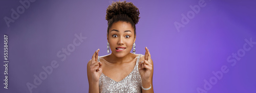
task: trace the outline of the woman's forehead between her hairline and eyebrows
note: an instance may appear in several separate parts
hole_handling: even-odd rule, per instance
[[[114,24],[110,28],[110,33],[116,32],[112,30],[118,30],[119,32],[124,32],[129,30],[132,33],[134,33],[134,28],[132,27],[132,25],[129,22],[125,22],[125,21],[114,22]]]

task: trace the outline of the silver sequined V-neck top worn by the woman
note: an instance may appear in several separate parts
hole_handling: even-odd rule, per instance
[[[142,92],[141,91],[141,77],[138,70],[139,60],[141,54],[137,56],[136,65],[133,71],[119,82],[105,76],[103,73],[99,78],[100,92]],[[98,57],[99,60],[99,57]]]

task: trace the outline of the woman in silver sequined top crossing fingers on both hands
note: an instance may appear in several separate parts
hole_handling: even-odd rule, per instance
[[[87,65],[89,92],[154,92],[153,61],[135,54],[139,10],[132,3],[114,2],[106,9],[108,53],[99,57],[99,49]],[[133,49],[133,53],[130,51]]]

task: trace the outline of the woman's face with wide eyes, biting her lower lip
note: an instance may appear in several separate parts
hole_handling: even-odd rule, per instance
[[[132,25],[124,21],[115,22],[107,36],[110,49],[116,57],[124,57],[131,52],[135,37]]]

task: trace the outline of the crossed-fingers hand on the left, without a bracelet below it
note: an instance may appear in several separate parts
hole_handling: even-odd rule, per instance
[[[98,62],[98,55],[99,55],[99,49],[93,54],[92,60],[91,60],[91,74],[92,74],[92,81],[98,82],[99,77],[102,74],[102,63]]]

